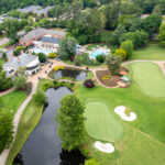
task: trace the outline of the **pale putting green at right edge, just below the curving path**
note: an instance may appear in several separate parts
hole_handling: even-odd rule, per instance
[[[165,76],[156,64],[134,63],[131,64],[133,79],[141,90],[151,97],[165,97]]]

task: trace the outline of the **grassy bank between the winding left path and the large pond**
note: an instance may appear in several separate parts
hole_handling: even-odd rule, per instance
[[[53,85],[52,80],[42,79],[37,88],[40,90],[46,90],[46,88],[51,87],[52,85]],[[44,107],[43,105],[41,106],[35,105],[33,99],[26,106],[25,110],[21,116],[16,138],[11,148],[11,152],[8,156],[7,165],[12,164],[12,161],[22,148],[24,142],[26,141],[31,132],[35,129],[36,124],[40,121],[40,118],[42,117],[43,107]]]

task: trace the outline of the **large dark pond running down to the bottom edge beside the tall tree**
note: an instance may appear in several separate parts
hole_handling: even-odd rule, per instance
[[[57,135],[57,122],[55,113],[59,108],[61,99],[70,95],[66,87],[58,89],[50,88],[46,91],[48,106],[43,116],[22,147],[19,158],[21,165],[80,165],[85,157],[78,151],[66,152],[62,150],[61,140]],[[15,158],[19,160],[19,158]],[[19,161],[20,162],[20,161]]]

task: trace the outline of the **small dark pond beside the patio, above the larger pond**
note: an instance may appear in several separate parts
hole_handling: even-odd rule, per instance
[[[55,74],[55,79],[58,79],[62,77],[70,77],[77,80],[85,80],[87,78],[87,73],[80,72],[80,70],[63,69],[63,70],[58,70]]]

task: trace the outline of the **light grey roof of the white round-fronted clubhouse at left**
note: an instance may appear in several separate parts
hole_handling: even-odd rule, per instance
[[[22,54],[19,57],[14,57],[10,62],[3,64],[3,67],[18,69],[19,67],[26,66],[29,63],[33,62],[36,58],[38,57],[35,55]]]

